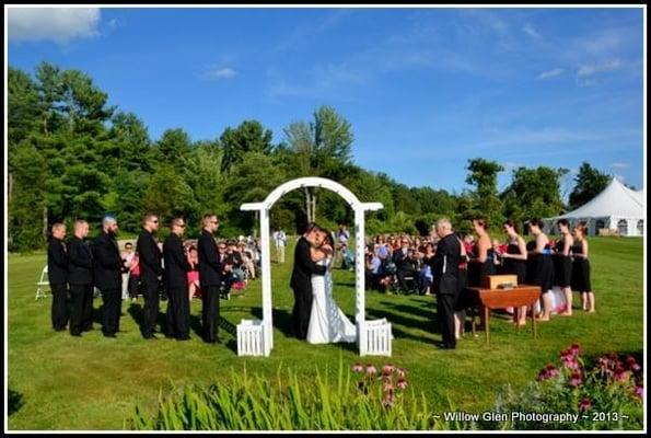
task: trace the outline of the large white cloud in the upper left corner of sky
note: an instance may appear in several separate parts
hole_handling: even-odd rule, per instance
[[[50,39],[65,44],[98,35],[98,8],[8,8],[10,42]]]

